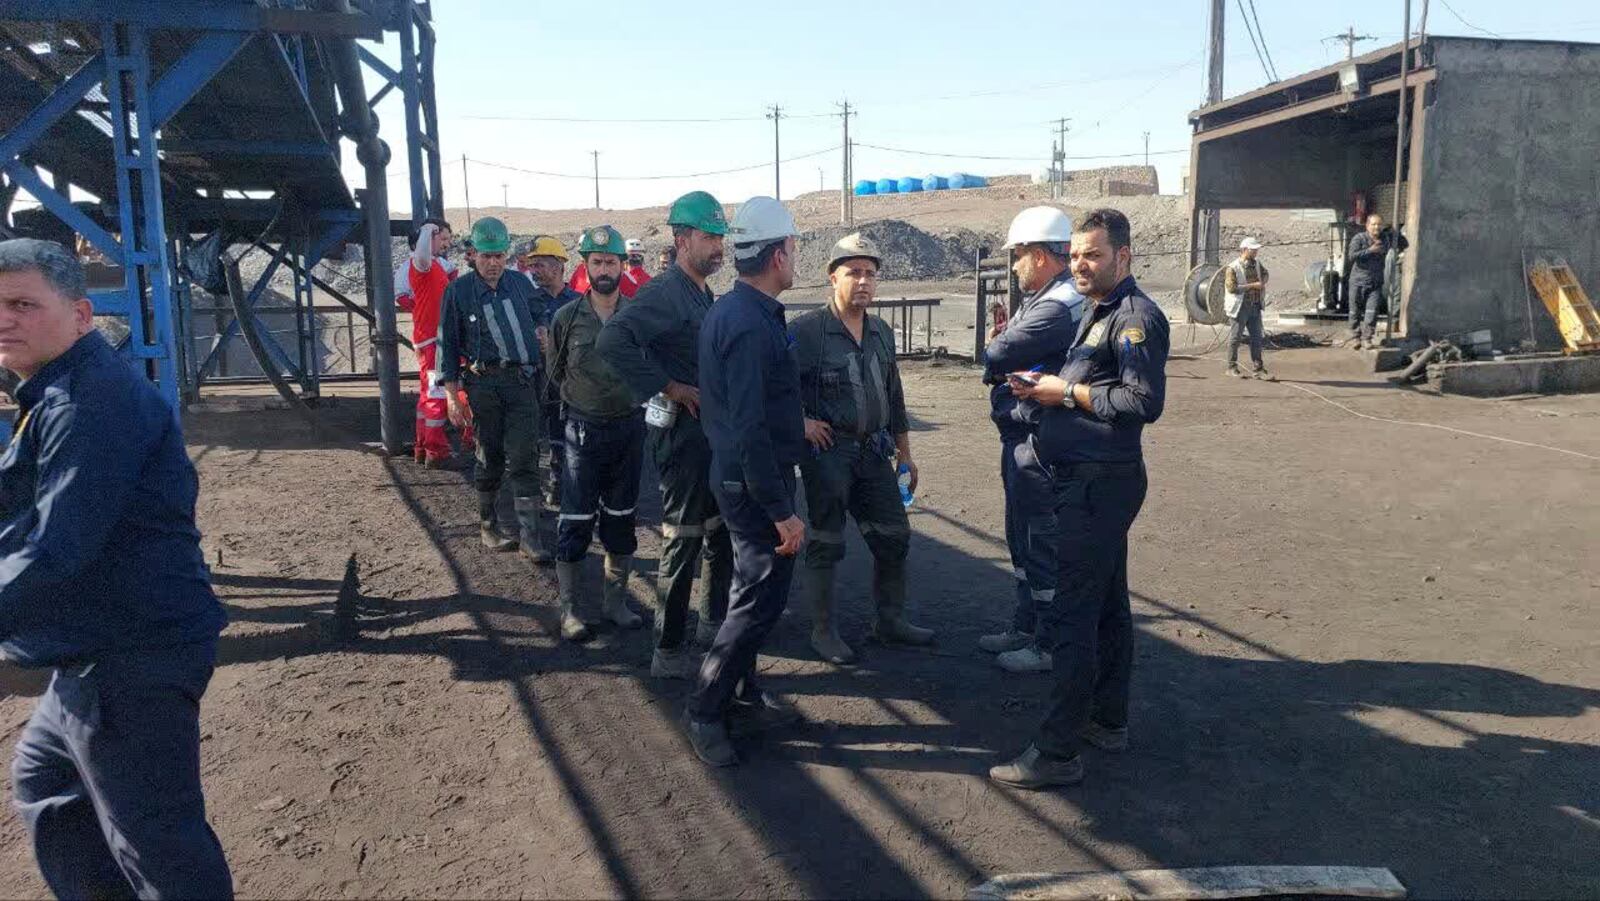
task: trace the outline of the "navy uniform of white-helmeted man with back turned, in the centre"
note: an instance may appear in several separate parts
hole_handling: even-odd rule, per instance
[[[706,314],[699,336],[701,422],[710,488],[733,538],[728,618],[690,698],[694,722],[717,722],[742,682],[755,696],[755,656],[789,603],[795,559],[778,554],[774,523],[792,515],[795,466],[806,459],[794,339],[776,298],[739,282]]]

